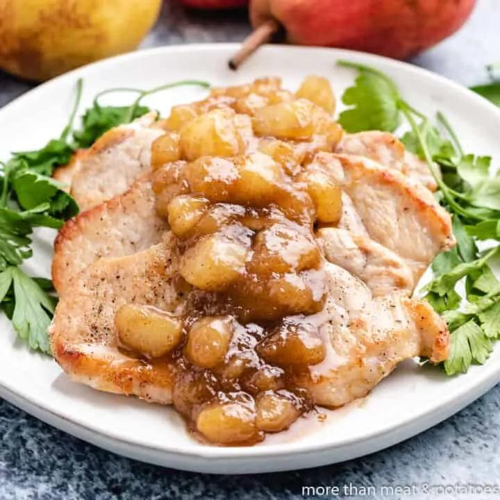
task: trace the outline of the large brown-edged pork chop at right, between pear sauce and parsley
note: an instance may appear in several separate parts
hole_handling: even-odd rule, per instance
[[[455,244],[451,217],[420,183],[363,156],[317,153],[308,169],[326,172],[352,201],[367,235],[412,267],[418,280],[435,255]]]

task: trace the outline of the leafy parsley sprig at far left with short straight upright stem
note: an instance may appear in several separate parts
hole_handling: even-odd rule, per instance
[[[31,278],[20,267],[33,255],[31,236],[39,226],[60,227],[78,213],[74,199],[51,178],[53,169],[68,163],[74,147],[67,141],[80,103],[82,82],[69,122],[60,137],[38,151],[12,153],[0,164],[0,306],[10,318],[19,338],[31,349],[50,353],[47,326],[55,300],[47,283]]]

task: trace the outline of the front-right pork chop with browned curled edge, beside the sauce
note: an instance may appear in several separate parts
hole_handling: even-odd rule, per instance
[[[316,404],[335,408],[364,397],[403,360],[448,356],[449,331],[426,301],[400,294],[373,299],[346,270],[328,265],[330,294],[319,329],[326,358],[294,378]]]

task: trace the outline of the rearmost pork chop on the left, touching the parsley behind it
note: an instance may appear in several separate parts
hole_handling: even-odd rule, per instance
[[[117,126],[81,158],[71,194],[82,211],[125,192],[151,169],[151,144],[165,131],[153,127],[156,113]]]

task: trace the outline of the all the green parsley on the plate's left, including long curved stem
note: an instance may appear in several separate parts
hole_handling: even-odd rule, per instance
[[[75,151],[92,146],[110,128],[148,113],[150,108],[141,104],[144,97],[183,85],[210,86],[204,81],[185,80],[150,90],[104,90],[83,114],[81,128],[75,130],[83,90],[80,79],[74,106],[60,136],[41,149],[12,153],[6,163],[0,162],[0,308],[31,349],[51,353],[47,327],[56,297],[49,280],[28,276],[19,266],[33,255],[31,238],[35,228],[59,228],[78,213],[64,185],[51,177],[54,169],[69,163]],[[99,99],[105,94],[125,91],[138,94],[130,106],[101,106]]]

